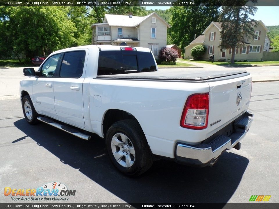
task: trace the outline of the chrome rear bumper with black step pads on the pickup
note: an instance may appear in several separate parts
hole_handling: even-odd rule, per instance
[[[246,135],[252,121],[253,113],[246,112],[199,145],[176,143],[176,161],[198,166],[214,163],[223,152],[233,148]]]

